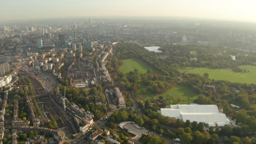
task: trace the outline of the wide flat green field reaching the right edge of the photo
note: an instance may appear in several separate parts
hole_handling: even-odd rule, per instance
[[[239,68],[249,70],[246,73],[235,73],[231,69],[208,69],[208,68],[194,68],[189,69],[188,73],[195,73],[203,75],[208,73],[210,79],[226,80],[230,82],[254,83],[256,84],[256,67],[251,65],[242,65]]]

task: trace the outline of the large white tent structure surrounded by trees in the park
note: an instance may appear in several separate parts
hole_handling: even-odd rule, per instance
[[[224,113],[219,112],[216,105],[170,105],[170,109],[160,109],[158,112],[164,116],[179,118],[183,121],[203,122],[209,126],[224,127],[230,125]]]

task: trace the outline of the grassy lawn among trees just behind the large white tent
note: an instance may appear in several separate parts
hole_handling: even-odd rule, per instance
[[[185,87],[181,85],[176,85],[168,89],[168,91],[166,91],[163,94],[154,94],[148,91],[148,88],[141,83],[141,88],[139,88],[139,91],[136,92],[136,99],[139,101],[146,101],[146,100],[157,98],[160,95],[167,99],[171,99],[171,97],[173,97],[174,100],[178,100],[178,98],[186,101],[190,100],[190,101],[187,101],[187,103],[191,103],[192,102],[191,100],[195,100],[198,97],[198,95],[194,93],[189,87]]]

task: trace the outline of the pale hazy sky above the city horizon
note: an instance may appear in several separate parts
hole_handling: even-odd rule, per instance
[[[0,1],[0,21],[82,16],[175,16],[256,22],[255,0]]]

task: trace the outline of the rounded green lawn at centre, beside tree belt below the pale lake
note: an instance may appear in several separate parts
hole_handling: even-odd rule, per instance
[[[124,74],[127,74],[130,71],[133,71],[134,69],[138,69],[141,74],[144,74],[144,73],[147,73],[147,70],[149,68],[152,69],[154,73],[159,72],[154,67],[152,67],[152,65],[149,65],[148,63],[138,58],[124,59],[123,65],[120,68]]]

